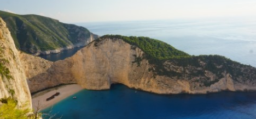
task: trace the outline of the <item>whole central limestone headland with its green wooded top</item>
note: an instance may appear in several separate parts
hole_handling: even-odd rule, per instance
[[[160,45],[144,47],[143,39]],[[170,52],[156,59],[158,54],[149,53],[154,48]],[[121,83],[160,94],[256,90],[256,68],[252,66],[218,55],[190,56],[143,37],[103,36],[72,57],[49,64],[47,70],[28,78],[31,92],[68,83],[90,90],[109,89],[111,84]]]

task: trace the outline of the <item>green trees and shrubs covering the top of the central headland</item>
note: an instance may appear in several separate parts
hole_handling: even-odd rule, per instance
[[[135,61],[132,63],[136,63],[137,66],[141,66],[141,61],[143,59],[147,59],[149,64],[153,66],[149,68],[148,71],[152,71],[154,73],[154,78],[156,75],[177,77],[177,79],[193,79],[194,77],[202,77],[195,80],[195,82],[200,82],[204,86],[211,86],[224,77],[224,72],[231,74],[231,76],[242,77],[245,72],[242,72],[239,67],[251,67],[242,65],[220,55],[189,55],[165,42],[150,39],[149,37],[104,35],[95,41],[95,47],[100,45],[99,41],[101,39],[121,39],[132,45],[130,49],[136,50],[137,47],[142,49],[146,55],[143,55],[143,57],[137,57],[134,55]],[[177,72],[172,70],[172,67],[166,67],[167,65],[165,62],[171,62],[172,65],[180,67],[181,70]],[[197,70],[197,68],[201,70]],[[211,81],[211,78],[206,76],[207,72],[213,73],[215,75],[215,79]],[[236,78],[234,79],[236,80]]]

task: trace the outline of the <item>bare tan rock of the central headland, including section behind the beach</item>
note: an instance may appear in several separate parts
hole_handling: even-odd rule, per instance
[[[37,72],[37,76],[27,76],[30,90],[36,92],[69,83],[78,83],[89,90],[105,90],[109,89],[111,84],[121,83],[130,88],[159,94],[256,90],[256,76],[254,75],[256,70],[253,67],[235,63],[229,66],[232,71],[239,71],[242,76],[250,76],[249,79],[243,80],[242,78],[234,79],[234,76],[225,70],[218,75],[206,70],[206,61],[197,60],[201,64],[199,66],[179,66],[176,61],[170,60],[164,62],[166,71],[176,72],[181,76],[171,74],[165,76],[150,70],[155,67],[144,58],[146,54],[139,48],[131,47],[133,46],[121,39],[94,41],[70,58],[45,62],[45,65],[49,67],[47,70],[37,70],[37,72],[32,69],[30,72]],[[135,58],[142,60],[135,62]],[[220,65],[216,67],[220,68]],[[251,72],[242,71],[240,67]],[[202,73],[197,74],[198,72]]]

